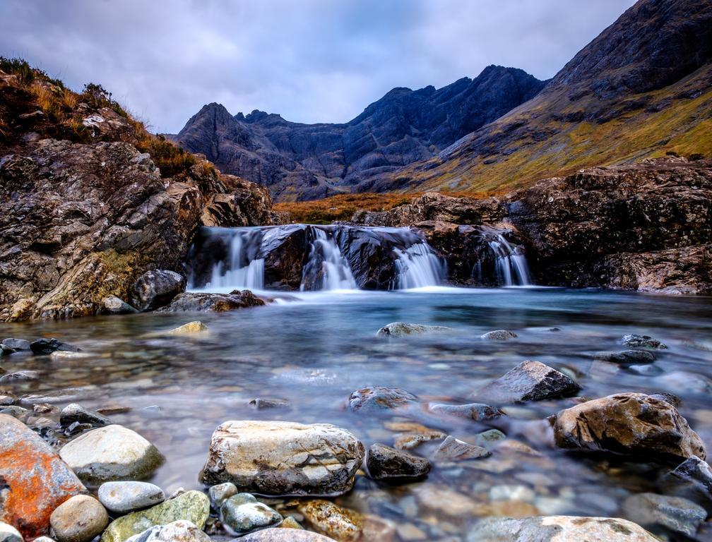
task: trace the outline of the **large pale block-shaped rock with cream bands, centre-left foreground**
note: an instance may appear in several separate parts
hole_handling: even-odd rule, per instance
[[[363,456],[361,442],[334,425],[229,421],[213,433],[200,478],[263,495],[341,494]]]

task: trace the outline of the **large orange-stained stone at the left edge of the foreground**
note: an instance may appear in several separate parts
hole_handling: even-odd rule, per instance
[[[0,521],[26,538],[46,534],[50,515],[70,497],[85,493],[78,477],[36,432],[0,414]]]

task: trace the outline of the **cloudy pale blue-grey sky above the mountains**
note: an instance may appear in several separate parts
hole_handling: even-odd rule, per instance
[[[1,0],[0,55],[100,83],[155,132],[204,104],[347,122],[487,65],[551,78],[633,0]]]

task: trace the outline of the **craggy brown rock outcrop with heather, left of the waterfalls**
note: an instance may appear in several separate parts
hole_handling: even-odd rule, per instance
[[[276,219],[266,188],[40,75],[0,71],[0,320],[97,314],[145,272],[184,274],[200,225]]]

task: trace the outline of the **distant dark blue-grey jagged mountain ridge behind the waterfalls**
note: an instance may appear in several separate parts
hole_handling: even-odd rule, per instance
[[[491,65],[440,89],[394,88],[345,124],[298,124],[261,111],[231,116],[211,103],[172,137],[277,198],[314,199],[430,159],[544,85],[523,70]]]

